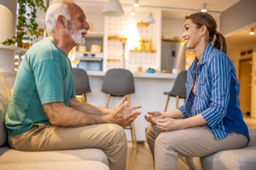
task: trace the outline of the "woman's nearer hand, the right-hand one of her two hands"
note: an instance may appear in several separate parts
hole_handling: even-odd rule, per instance
[[[156,126],[163,132],[181,129],[181,119],[164,118],[156,121]]]

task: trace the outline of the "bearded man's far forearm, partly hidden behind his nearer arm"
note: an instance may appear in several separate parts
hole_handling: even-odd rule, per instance
[[[90,115],[97,115],[97,116],[106,116],[111,111],[111,110],[108,110],[108,109],[102,109],[102,108],[96,107],[94,105],[84,103],[84,102],[79,101],[79,100],[73,100],[73,101],[69,102],[69,106],[72,107],[75,110],[83,111],[83,112],[88,113]]]

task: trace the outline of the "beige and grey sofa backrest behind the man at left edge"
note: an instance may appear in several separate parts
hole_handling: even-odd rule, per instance
[[[4,124],[5,114],[8,109],[10,98],[9,82],[7,78],[0,72],[0,146],[7,140],[7,132]]]

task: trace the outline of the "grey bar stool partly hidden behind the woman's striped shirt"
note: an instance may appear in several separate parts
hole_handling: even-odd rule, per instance
[[[187,82],[187,71],[181,71],[173,84],[172,90],[170,92],[165,92],[167,94],[167,101],[166,101],[166,109],[169,103],[170,96],[176,97],[176,109],[178,107],[178,99],[184,99],[186,102],[186,82]]]

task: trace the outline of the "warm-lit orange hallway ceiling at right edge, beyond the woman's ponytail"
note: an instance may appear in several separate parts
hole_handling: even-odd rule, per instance
[[[238,45],[256,42],[256,26],[254,26],[254,35],[250,35],[251,29],[247,29],[236,33],[235,35],[226,38],[227,47],[233,48]]]

